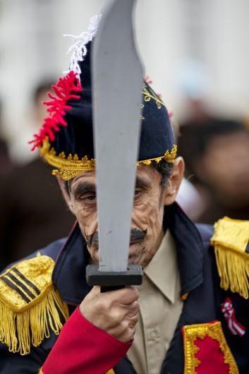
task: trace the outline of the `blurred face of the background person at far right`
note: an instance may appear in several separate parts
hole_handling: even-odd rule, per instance
[[[196,162],[197,175],[212,188],[225,207],[249,203],[249,134],[245,131],[217,135]]]

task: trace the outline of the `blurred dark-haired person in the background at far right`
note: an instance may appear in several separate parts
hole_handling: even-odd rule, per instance
[[[186,179],[196,192],[195,210],[188,214],[207,224],[224,216],[249,219],[247,121],[209,114],[200,99],[191,99],[189,106],[190,116],[178,134],[178,154],[186,162]]]

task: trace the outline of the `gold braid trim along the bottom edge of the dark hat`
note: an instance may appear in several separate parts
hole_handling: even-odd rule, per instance
[[[176,159],[176,152],[177,145],[175,144],[171,150],[166,150],[164,155],[138,161],[138,165],[150,165],[152,161],[158,163],[162,159],[173,163]],[[47,138],[43,141],[42,147],[40,147],[40,154],[51,166],[57,168],[52,171],[52,174],[60,176],[63,181],[68,181],[74,176],[85,173],[86,171],[95,170],[95,159],[88,159],[87,156],[79,159],[78,155],[68,155],[68,157],[66,157],[64,152],[56,155],[56,151],[54,148],[51,148]]]

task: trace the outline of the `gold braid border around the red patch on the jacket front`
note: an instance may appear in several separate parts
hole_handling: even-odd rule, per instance
[[[199,350],[198,346],[195,345],[195,340],[204,339],[206,336],[216,340],[219,343],[219,348],[224,354],[224,363],[229,365],[229,374],[239,374],[236,361],[234,360],[229,346],[226,343],[226,339],[221,328],[221,322],[219,321],[183,327],[185,356],[184,374],[197,374],[195,368],[200,365],[200,360],[195,356]]]

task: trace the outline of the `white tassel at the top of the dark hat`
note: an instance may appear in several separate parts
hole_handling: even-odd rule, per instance
[[[65,71],[65,73],[69,73],[69,71],[74,71],[76,73],[76,76],[80,78],[81,70],[78,61],[84,60],[84,57],[87,54],[87,49],[85,45],[88,42],[92,41],[92,38],[95,37],[101,17],[102,15],[99,14],[90,18],[90,23],[87,28],[87,31],[81,32],[80,35],[63,35],[64,37],[72,37],[73,40],[75,40],[74,44],[68,49],[67,52],[67,54],[72,53],[72,55],[69,70]]]

